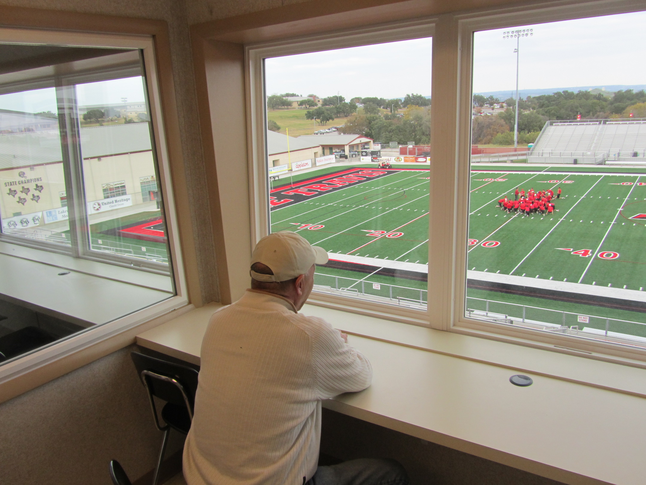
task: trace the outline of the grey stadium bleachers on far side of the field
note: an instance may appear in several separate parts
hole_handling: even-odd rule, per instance
[[[646,119],[549,121],[530,151],[528,162],[645,164]]]

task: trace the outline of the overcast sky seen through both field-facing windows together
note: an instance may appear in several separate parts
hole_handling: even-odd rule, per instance
[[[520,39],[519,89],[646,84],[645,26],[640,12],[520,27],[534,36]],[[516,89],[510,28],[475,33],[474,92]],[[431,39],[267,59],[267,94],[430,96],[430,65]]]

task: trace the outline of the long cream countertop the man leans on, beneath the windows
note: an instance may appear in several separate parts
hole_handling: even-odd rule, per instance
[[[199,365],[220,307],[193,310],[137,343]],[[328,409],[565,483],[641,483],[646,435],[634,431],[646,428],[643,369],[331,308],[302,312],[349,332],[375,369],[370,388],[326,400]],[[519,373],[534,384],[512,385]]]

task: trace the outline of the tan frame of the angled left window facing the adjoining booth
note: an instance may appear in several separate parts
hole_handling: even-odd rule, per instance
[[[140,310],[136,310],[107,323],[81,330],[77,334],[60,339],[50,345],[32,350],[3,363],[3,365],[0,365],[1,385],[43,365],[48,365],[54,361],[71,356],[87,347],[97,345],[106,339],[117,336],[126,330],[151,321],[152,319],[186,307],[189,303],[189,288],[187,287],[182,247],[180,246],[180,227],[177,217],[178,208],[176,207],[172,190],[171,160],[169,157],[171,147],[169,147],[166,139],[165,116],[161,100],[160,73],[157,71],[158,54],[156,53],[155,36],[153,34],[103,34],[101,32],[78,32],[74,30],[61,31],[25,27],[2,27],[0,28],[0,42],[79,47],[133,48],[143,52],[143,67],[145,68],[145,72],[142,75],[147,85],[147,96],[151,109],[152,134],[154,135],[152,136],[152,146],[153,150],[156,151],[158,167],[158,173],[156,174],[157,182],[158,187],[164,193],[163,207],[170,250],[169,277],[171,277],[175,292],[174,296],[170,296],[159,303],[141,308]],[[171,123],[172,121],[171,119]],[[5,240],[4,242],[17,244],[15,240]],[[17,245],[34,247],[30,244]],[[52,248],[44,248],[43,246],[37,249],[46,250],[47,252],[52,251]],[[70,255],[68,252],[66,254]],[[108,261],[107,259],[98,259],[98,261],[106,264],[116,263],[116,261]]]

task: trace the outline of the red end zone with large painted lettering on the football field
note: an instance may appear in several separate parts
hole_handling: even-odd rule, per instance
[[[273,189],[269,196],[271,209],[297,204],[303,200],[313,199],[319,195],[344,189],[349,185],[360,184],[373,178],[381,178],[397,171],[353,168],[322,177],[313,177],[293,185]]]

